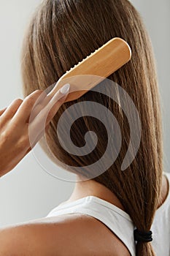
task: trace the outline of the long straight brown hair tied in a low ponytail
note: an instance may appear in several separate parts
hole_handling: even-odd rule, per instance
[[[125,39],[132,50],[131,61],[109,79],[128,93],[139,112],[142,137],[134,161],[125,171],[120,169],[130,140],[128,119],[120,105],[96,91],[88,91],[80,99],[64,103],[50,123],[46,138],[53,155],[61,162],[87,167],[84,170],[88,172],[88,165],[100,159],[107,148],[106,127],[97,118],[83,116],[81,107],[82,117],[74,122],[70,131],[72,142],[82,147],[85,133],[93,130],[98,143],[90,154],[76,156],[61,147],[56,132],[58,120],[66,108],[82,101],[98,102],[112,111],[120,125],[122,146],[112,166],[93,179],[115,193],[139,230],[148,231],[161,192],[161,113],[152,46],[139,13],[131,3],[127,0],[43,1],[31,20],[23,45],[23,89],[25,95],[36,89],[47,89],[66,70],[113,37]],[[71,118],[69,113],[66,117],[62,122],[63,131]],[[112,145],[113,152],[115,147]],[[138,242],[136,255],[154,255],[151,244]]]

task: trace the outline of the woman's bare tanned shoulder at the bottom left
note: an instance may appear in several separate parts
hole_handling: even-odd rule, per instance
[[[82,214],[35,219],[0,229],[0,256],[129,256],[109,228]]]

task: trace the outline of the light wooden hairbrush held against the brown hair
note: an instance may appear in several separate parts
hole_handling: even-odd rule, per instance
[[[65,102],[78,99],[117,69],[123,67],[130,59],[131,48],[128,43],[119,37],[112,38],[66,71],[49,95],[53,96],[64,84],[69,83],[69,94]]]

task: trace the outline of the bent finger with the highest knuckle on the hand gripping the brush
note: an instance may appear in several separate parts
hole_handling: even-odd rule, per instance
[[[35,105],[38,105],[42,99],[47,96],[44,91],[36,90],[29,94],[24,100],[23,103],[18,108],[18,111],[15,113],[15,120],[26,122],[31,114]]]

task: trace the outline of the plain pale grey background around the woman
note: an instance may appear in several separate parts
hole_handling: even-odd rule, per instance
[[[0,0],[0,108],[21,97],[20,46],[23,32],[38,0]],[[170,1],[134,0],[147,26],[158,66],[163,111],[164,170],[169,171]],[[53,178],[42,170],[31,152],[12,172],[0,179],[0,226],[45,217],[67,200],[74,183]]]

